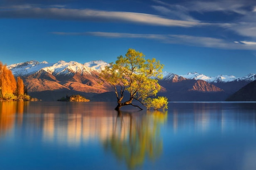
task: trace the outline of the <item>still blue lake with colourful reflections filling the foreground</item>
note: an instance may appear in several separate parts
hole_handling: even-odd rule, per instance
[[[256,103],[0,102],[0,169],[255,170]]]

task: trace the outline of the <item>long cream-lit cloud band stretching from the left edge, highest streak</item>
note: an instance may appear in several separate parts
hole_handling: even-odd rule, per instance
[[[167,27],[193,27],[204,25],[204,23],[196,21],[174,20],[157,15],[143,13],[39,7],[28,9],[0,10],[0,18],[50,18],[81,21],[133,22]]]

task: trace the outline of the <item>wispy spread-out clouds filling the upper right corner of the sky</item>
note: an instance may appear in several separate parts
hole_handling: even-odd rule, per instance
[[[199,21],[195,19],[191,12],[198,12],[205,14],[208,12],[222,12],[221,15],[229,15],[229,13],[239,14],[236,18],[230,18],[229,23],[219,22],[211,23],[211,26],[223,27],[227,30],[234,31],[235,33],[256,39],[256,1],[253,0],[192,0],[186,3],[169,4],[160,0],[153,0],[158,5],[152,6],[155,10],[161,13],[169,14],[170,17],[180,16],[184,20]],[[209,20],[211,19],[211,16]],[[206,24],[209,24],[207,21]]]

